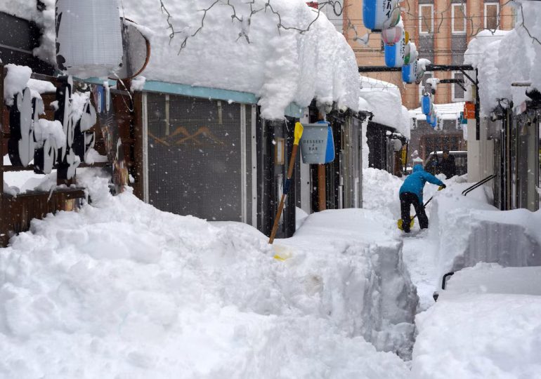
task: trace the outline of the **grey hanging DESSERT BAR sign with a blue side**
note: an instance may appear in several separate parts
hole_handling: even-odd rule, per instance
[[[326,164],[334,161],[334,139],[330,124],[302,124],[301,155],[305,164]]]

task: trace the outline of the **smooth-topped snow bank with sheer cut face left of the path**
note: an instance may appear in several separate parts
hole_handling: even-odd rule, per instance
[[[310,313],[363,335],[378,350],[409,357],[418,298],[393,223],[379,211],[323,211],[278,243],[294,251],[288,265],[302,262],[297,275],[307,277],[308,269],[318,283],[321,302]]]

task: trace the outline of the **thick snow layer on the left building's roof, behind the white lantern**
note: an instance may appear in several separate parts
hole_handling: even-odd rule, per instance
[[[34,53],[53,62],[55,1],[44,4],[43,14],[25,0],[4,1],[0,11],[44,27],[44,39]],[[313,98],[358,111],[355,54],[323,13],[313,22],[318,13],[304,0],[273,0],[271,6],[265,0],[219,1],[206,13],[201,10],[212,4],[207,0],[164,0],[175,31],[172,39],[159,1],[120,4],[120,14],[136,22],[150,40],[150,62],[143,72],[147,80],[254,93],[268,119],[282,118],[292,102],[306,107]],[[308,25],[308,32],[285,29]]]

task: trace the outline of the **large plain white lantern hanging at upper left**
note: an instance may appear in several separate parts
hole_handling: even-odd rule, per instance
[[[82,79],[117,70],[122,64],[118,1],[57,0],[56,62]]]

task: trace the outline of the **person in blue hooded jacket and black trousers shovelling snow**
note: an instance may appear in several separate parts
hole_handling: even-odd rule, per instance
[[[412,173],[404,180],[400,187],[400,214],[402,218],[402,230],[410,232],[410,208],[413,204],[421,229],[429,227],[429,218],[424,213],[423,188],[426,182],[445,188],[445,184],[431,173],[424,171],[422,164],[416,164]]]

